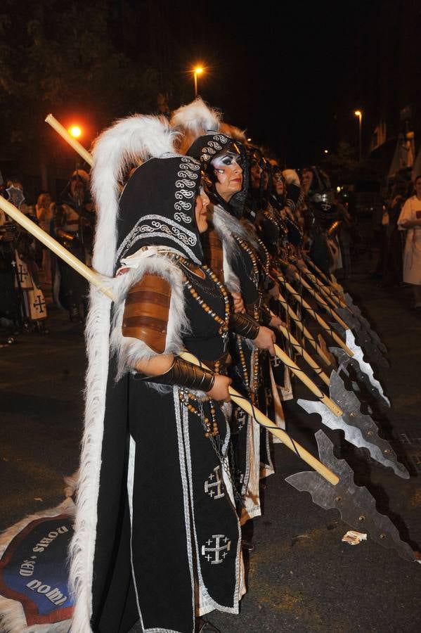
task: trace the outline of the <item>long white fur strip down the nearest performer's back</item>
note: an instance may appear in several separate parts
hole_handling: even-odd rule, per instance
[[[149,158],[174,153],[177,133],[169,127],[164,117],[134,115],[117,121],[105,130],[93,148],[94,167],[91,174],[91,190],[98,222],[93,247],[93,268],[103,275],[105,286],[110,286],[118,298],[114,317],[116,326],[119,307],[129,283],[136,276],[151,270],[154,264],[145,264],[129,276],[112,278],[115,273],[117,246],[117,217],[119,196],[127,170]],[[165,262],[162,264],[162,269]],[[167,273],[169,274],[169,273]],[[86,321],[86,350],[88,370],[85,385],[85,426],[77,485],[77,511],[75,537],[70,546],[70,588],[75,598],[72,633],[91,631],[93,555],[96,542],[97,501],[103,442],[105,395],[110,357],[111,301],[96,288],[91,287],[90,309]],[[178,344],[173,328],[171,345]],[[119,356],[122,371],[129,358],[139,350],[132,343],[119,342],[113,337],[113,349]]]

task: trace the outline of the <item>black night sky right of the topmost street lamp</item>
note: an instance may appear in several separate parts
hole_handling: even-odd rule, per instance
[[[252,14],[240,3],[202,5],[180,68],[205,64],[200,94],[252,141],[290,166],[317,162],[338,140],[358,143],[358,41],[379,4],[261,2]]]

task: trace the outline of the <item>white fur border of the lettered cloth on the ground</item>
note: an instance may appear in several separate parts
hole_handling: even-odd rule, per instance
[[[37,513],[31,514],[22,519],[11,528],[1,532],[0,535],[0,558],[6,551],[8,544],[18,535],[28,523],[40,518],[48,518],[58,516],[60,514],[67,514],[68,516],[74,516],[75,504],[69,497],[65,499],[59,506],[42,510]],[[22,604],[16,600],[11,600],[0,596],[0,631],[1,633],[67,633],[70,627],[70,620],[63,620],[62,622],[49,623],[45,625],[31,625],[27,626],[27,620],[25,617],[25,611]]]

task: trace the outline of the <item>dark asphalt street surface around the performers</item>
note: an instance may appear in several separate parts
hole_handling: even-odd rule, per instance
[[[410,289],[382,288],[370,276],[372,266],[361,257],[346,289],[387,345],[391,367],[377,376],[392,408],[375,413],[410,479],[328,435],[339,439],[341,456],[352,464],[356,482],[372,492],[377,509],[394,520],[413,549],[421,549],[421,315],[413,311]],[[0,348],[1,530],[63,500],[63,476],[77,468],[82,328],[50,307],[49,334],[20,335],[16,345]],[[311,399],[299,385],[296,391]],[[289,433],[315,453],[313,418],[291,403],[285,411]],[[274,458],[276,474],[263,490],[264,516],[250,528],[256,549],[246,560],[248,591],[240,615],[214,612],[209,620],[224,633],[419,633],[421,565],[370,539],[343,543],[349,526],[339,513],[324,511],[285,482],[306,465],[282,445]]]

